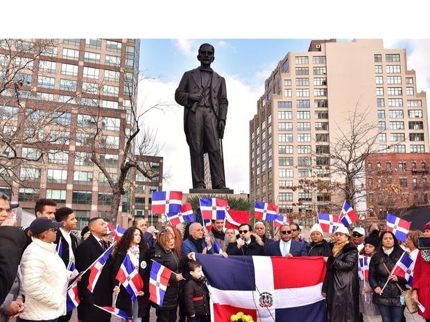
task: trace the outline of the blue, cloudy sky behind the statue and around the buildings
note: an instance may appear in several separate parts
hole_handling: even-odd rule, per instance
[[[229,100],[225,137],[225,181],[235,193],[249,193],[249,120],[257,111],[264,80],[288,52],[306,52],[310,39],[142,39],[139,69],[150,78],[139,85],[139,105],[169,103],[164,111],[151,111],[144,125],[157,132],[162,145],[164,172],[171,179],[163,190],[191,188],[189,150],[183,131],[183,107],[174,100],[184,71],[196,68],[198,46],[215,46],[214,70],[225,78]],[[418,92],[430,88],[430,39],[384,39],[386,48],[406,48],[408,69],[415,69]]]

